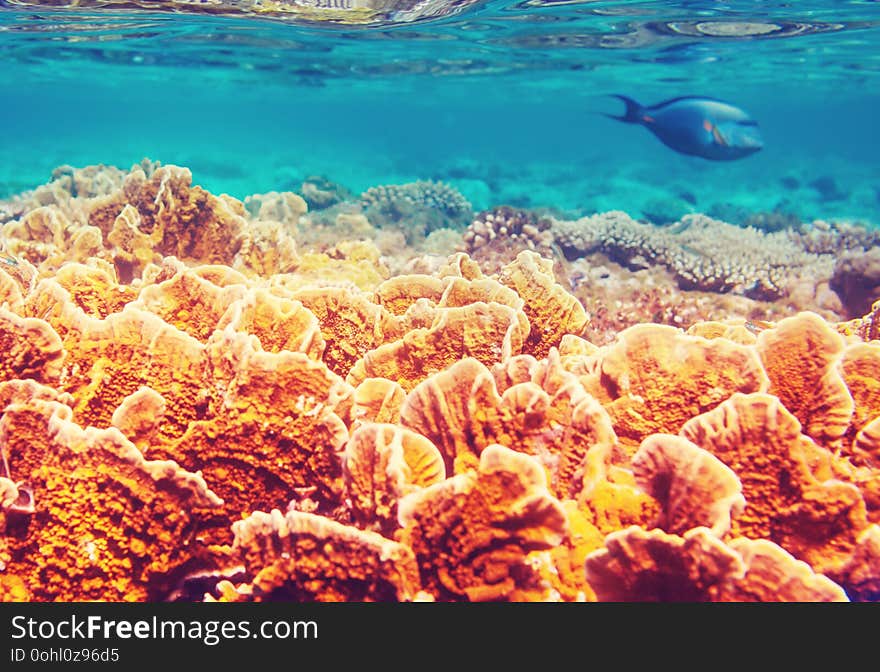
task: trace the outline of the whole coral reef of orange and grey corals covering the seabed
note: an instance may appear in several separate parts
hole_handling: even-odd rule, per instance
[[[302,193],[0,203],[0,599],[880,596],[875,231]]]

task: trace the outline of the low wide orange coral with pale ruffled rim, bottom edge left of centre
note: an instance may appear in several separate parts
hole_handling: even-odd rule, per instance
[[[253,577],[230,590],[236,601],[411,601],[419,593],[412,551],[366,532],[308,513],[256,512],[232,525],[234,553]]]

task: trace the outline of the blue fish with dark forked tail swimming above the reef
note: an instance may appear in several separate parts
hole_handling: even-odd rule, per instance
[[[645,107],[632,98],[613,95],[626,104],[621,116],[606,114],[628,124],[641,124],[660,141],[681,154],[712,161],[733,161],[764,146],[758,122],[735,105],[714,98],[684,96]]]

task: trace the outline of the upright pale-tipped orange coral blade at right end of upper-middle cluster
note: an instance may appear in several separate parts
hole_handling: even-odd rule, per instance
[[[556,282],[552,260],[525,250],[501,270],[500,279],[525,301],[523,310],[531,330],[524,352],[545,357],[565,334],[580,335],[587,326],[589,320],[580,301]]]

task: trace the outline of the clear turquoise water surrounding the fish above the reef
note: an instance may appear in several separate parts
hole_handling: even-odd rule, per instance
[[[0,198],[149,157],[239,198],[433,178],[477,208],[880,225],[877,2],[37,4],[0,2]],[[611,93],[729,100],[765,147],[675,153]]]

